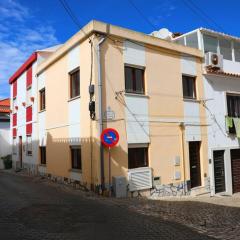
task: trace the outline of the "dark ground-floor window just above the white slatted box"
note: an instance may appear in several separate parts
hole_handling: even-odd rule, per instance
[[[128,168],[148,166],[148,148],[128,148]]]

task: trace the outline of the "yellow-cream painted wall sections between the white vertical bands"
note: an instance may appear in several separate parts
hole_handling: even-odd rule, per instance
[[[88,85],[91,70],[91,49],[88,40],[80,44],[80,82],[81,82],[81,145],[83,182],[100,183],[99,159],[99,126],[98,126],[98,89],[97,89],[97,55],[94,38],[93,49],[93,83],[97,120],[91,121],[88,111]],[[104,123],[105,127],[116,128],[120,134],[117,147],[111,150],[112,175],[126,175],[128,168],[128,144],[125,122],[125,108],[116,100],[116,92],[125,88],[124,60],[122,40],[113,43],[107,39],[102,47],[103,77],[103,111],[108,106],[116,113],[115,121]],[[184,103],[182,99],[182,79],[180,55],[175,52],[146,48],[146,91],[149,96],[150,145],[149,163],[155,176],[161,176],[163,184],[173,182],[174,170],[181,170],[183,180],[183,161],[185,162],[186,179],[189,179],[188,143],[184,141],[185,159],[182,152],[182,132],[179,119],[184,119]],[[203,96],[201,62],[197,65],[198,96]],[[47,172],[56,176],[69,177],[71,168],[68,139],[68,70],[67,55],[44,70],[46,74],[46,128],[47,128]],[[123,95],[124,98],[124,95]],[[206,124],[205,111],[200,106],[201,124]],[[161,119],[165,122],[161,122]],[[170,120],[169,120],[170,119]],[[174,122],[175,120],[175,122]],[[207,136],[206,127],[201,128],[202,145],[202,183],[207,173]],[[181,165],[174,167],[176,156],[181,158]],[[105,179],[108,182],[108,152],[105,149]]]

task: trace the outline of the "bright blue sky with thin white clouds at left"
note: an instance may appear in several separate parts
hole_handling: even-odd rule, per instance
[[[64,43],[79,31],[61,0],[0,0],[0,99],[9,77],[32,52]],[[199,27],[240,37],[239,0],[65,0],[81,26],[92,19],[151,33]]]

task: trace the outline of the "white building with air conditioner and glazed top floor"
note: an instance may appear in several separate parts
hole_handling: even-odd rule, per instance
[[[240,192],[240,38],[199,28],[173,38],[205,54],[202,104],[208,116],[208,157],[212,194]],[[232,127],[226,124],[226,117]],[[234,118],[234,120],[232,119]]]

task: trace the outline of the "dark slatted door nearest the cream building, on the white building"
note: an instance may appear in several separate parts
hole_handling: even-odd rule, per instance
[[[213,151],[215,193],[225,192],[224,150]]]

